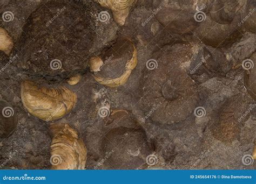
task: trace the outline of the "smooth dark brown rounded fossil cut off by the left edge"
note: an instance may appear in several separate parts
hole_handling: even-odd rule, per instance
[[[14,132],[18,123],[17,114],[12,106],[0,101],[0,137],[6,138]]]

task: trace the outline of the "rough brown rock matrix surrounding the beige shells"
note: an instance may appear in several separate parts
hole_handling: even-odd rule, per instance
[[[14,40],[10,56],[0,52],[0,100],[18,119],[12,135],[0,138],[1,168],[50,169],[50,123],[78,132],[88,169],[256,168],[242,160],[256,139],[256,104],[242,65],[255,58],[254,0],[142,0],[123,26],[95,1],[59,2],[0,2],[0,27]],[[13,16],[4,21],[8,11]],[[199,11],[202,21],[194,16]],[[100,12],[109,14],[106,21]],[[69,32],[61,27],[72,23],[78,24]],[[51,43],[55,37],[60,45]],[[138,64],[123,86],[102,86],[86,63],[119,37],[133,41]],[[62,61],[63,70],[51,69],[52,59]],[[23,65],[28,60],[31,65]],[[67,80],[75,74],[82,78],[71,86]],[[23,107],[24,80],[65,86],[76,93],[76,106],[57,121],[42,121]]]

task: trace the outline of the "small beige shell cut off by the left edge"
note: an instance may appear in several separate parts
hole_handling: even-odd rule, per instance
[[[10,55],[14,43],[11,37],[5,29],[0,27],[0,51],[3,51],[6,55]]]

